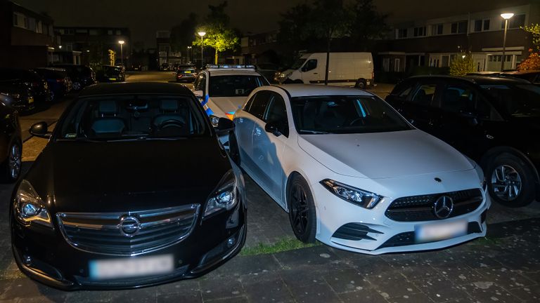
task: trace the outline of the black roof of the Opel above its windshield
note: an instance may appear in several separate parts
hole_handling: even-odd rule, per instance
[[[99,83],[88,86],[82,90],[79,97],[94,95],[120,95],[120,94],[181,94],[191,95],[191,90],[178,83],[158,82],[130,82],[130,83]]]

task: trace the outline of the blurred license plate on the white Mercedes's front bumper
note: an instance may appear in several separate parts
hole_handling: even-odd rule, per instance
[[[467,221],[424,224],[415,227],[417,242],[440,241],[467,234]]]

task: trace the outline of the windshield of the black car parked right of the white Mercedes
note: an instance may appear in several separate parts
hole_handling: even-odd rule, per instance
[[[512,116],[540,116],[540,87],[533,84],[482,86]]]

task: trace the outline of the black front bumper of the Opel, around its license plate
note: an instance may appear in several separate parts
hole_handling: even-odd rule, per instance
[[[19,269],[27,276],[63,290],[124,289],[157,285],[203,276],[238,254],[245,243],[245,214],[243,203],[238,203],[233,210],[205,220],[198,219],[195,229],[181,242],[135,257],[88,253],[68,244],[60,234],[58,224],[55,224],[54,229],[39,226],[29,228],[12,217],[13,255]],[[234,216],[238,224],[231,227],[229,221]],[[226,228],[228,223],[229,228]],[[174,260],[174,270],[167,274],[116,279],[91,278],[91,261],[162,255],[172,255]]]

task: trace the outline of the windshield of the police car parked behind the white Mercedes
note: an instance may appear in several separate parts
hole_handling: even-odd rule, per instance
[[[263,76],[211,76],[210,97],[247,97],[259,86],[269,85]]]

